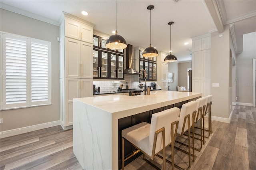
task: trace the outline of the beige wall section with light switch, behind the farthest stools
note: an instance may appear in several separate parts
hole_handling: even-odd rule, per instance
[[[229,118],[232,101],[229,89],[230,64],[230,31],[224,27],[223,36],[219,38],[218,32],[211,36],[211,85],[219,83],[219,87],[211,87],[213,95],[212,116]]]

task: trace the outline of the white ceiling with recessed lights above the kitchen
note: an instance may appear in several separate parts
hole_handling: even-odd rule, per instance
[[[94,30],[112,34],[115,30],[114,0],[0,0],[1,8],[31,18],[59,25],[62,11],[95,24]],[[212,0],[221,23],[232,25],[236,52],[241,51],[242,35],[256,31],[256,0]],[[204,0],[118,0],[117,31],[134,47],[146,48],[150,43],[158,51],[170,50],[170,26],[173,21],[172,54],[178,61],[191,60],[192,38],[218,30]],[[88,12],[83,16],[81,11]],[[223,24],[222,24],[223,25]],[[220,32],[220,30],[218,30]],[[188,42],[187,45],[184,45]]]

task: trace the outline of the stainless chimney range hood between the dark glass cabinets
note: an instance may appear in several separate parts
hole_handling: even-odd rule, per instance
[[[138,75],[140,74],[138,71],[132,69],[132,45],[128,44],[126,47],[126,69],[124,70],[124,74]]]

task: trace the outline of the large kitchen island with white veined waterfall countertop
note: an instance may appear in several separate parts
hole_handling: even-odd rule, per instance
[[[201,96],[202,93],[193,92],[152,91],[150,95],[74,99],[73,152],[85,170],[118,170],[120,120],[140,113],[152,115],[159,108],[168,109]]]

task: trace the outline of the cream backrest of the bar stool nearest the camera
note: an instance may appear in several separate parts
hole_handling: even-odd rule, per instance
[[[156,130],[160,128],[165,128],[165,144],[166,146],[170,144],[171,141],[171,123],[178,121],[180,109],[177,107],[167,109],[152,115],[150,123],[150,134],[149,134],[149,144],[148,148],[152,150],[154,143],[154,135]],[[159,133],[156,140],[156,150],[155,153],[162,149],[162,133]]]

